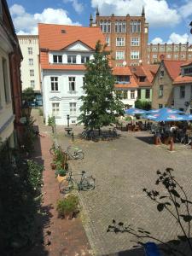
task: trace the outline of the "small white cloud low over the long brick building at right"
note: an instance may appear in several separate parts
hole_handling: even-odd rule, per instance
[[[186,44],[189,42],[189,44],[192,44],[192,35],[188,35],[187,33],[183,35],[179,35],[176,32],[172,32],[172,34],[169,36],[167,44]],[[151,44],[165,44],[162,38],[154,38],[151,41]]]

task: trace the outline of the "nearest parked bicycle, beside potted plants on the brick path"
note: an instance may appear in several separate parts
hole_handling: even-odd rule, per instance
[[[80,181],[78,183],[73,178],[73,172],[69,171],[67,178],[62,180],[61,183],[59,184],[60,193],[67,194],[71,192],[74,188],[74,183],[77,184],[79,191],[80,190],[90,191],[95,189],[96,179],[92,176],[86,176],[85,173],[86,173],[85,171],[82,171],[81,174],[77,174],[77,175],[81,175]]]

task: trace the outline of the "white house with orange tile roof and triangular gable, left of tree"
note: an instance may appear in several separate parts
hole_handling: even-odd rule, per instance
[[[84,63],[104,37],[100,28],[39,24],[44,118],[55,116],[56,125],[76,124],[84,94]],[[51,33],[50,33],[51,32]]]

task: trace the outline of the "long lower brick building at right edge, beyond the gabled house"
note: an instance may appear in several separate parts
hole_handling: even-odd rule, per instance
[[[167,61],[192,60],[192,45],[187,44],[148,44],[148,63],[154,64],[162,59]]]

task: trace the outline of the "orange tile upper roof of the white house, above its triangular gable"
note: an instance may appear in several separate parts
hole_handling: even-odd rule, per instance
[[[105,38],[100,27],[39,23],[38,34],[41,49],[61,50],[77,41],[81,41],[92,49],[95,49],[98,40],[105,44]]]

